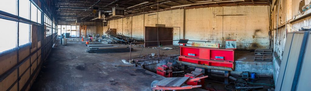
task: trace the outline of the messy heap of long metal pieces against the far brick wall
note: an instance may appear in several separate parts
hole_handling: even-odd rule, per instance
[[[104,44],[129,44],[138,41],[137,38],[124,36],[122,33],[116,33],[111,30],[107,30],[106,34],[106,36],[103,35],[102,39],[100,39]]]

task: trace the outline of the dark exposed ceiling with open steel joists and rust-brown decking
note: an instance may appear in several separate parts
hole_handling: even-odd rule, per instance
[[[200,4],[204,3],[204,1],[209,3]],[[148,3],[140,4],[143,2]],[[106,17],[106,20],[179,8],[268,5],[268,3],[269,0],[239,0],[236,2],[233,2],[233,0],[53,0],[56,16],[61,21],[94,21],[92,19],[98,17],[99,10],[109,11],[112,10],[112,7],[130,8],[125,9],[124,16],[109,16]],[[187,6],[189,4],[193,5]],[[185,7],[171,8],[181,5],[185,5]],[[94,7],[97,11],[95,14],[93,13]],[[103,19],[95,19],[95,21],[103,21]]]

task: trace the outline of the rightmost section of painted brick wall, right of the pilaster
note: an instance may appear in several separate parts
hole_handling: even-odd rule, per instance
[[[222,46],[225,40],[237,40],[238,49],[269,46],[267,6],[188,9],[185,19],[185,38],[189,40],[212,41]]]

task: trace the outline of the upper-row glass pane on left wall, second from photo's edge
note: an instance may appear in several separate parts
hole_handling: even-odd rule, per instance
[[[10,1],[10,0],[6,0]],[[14,1],[14,0],[12,0]],[[30,16],[30,2],[29,0],[19,0],[19,15],[25,19],[29,19]]]

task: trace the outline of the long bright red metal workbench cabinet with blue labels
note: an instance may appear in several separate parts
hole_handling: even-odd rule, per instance
[[[179,61],[200,65],[228,67],[234,70],[233,49],[212,49],[203,47],[180,46]]]

